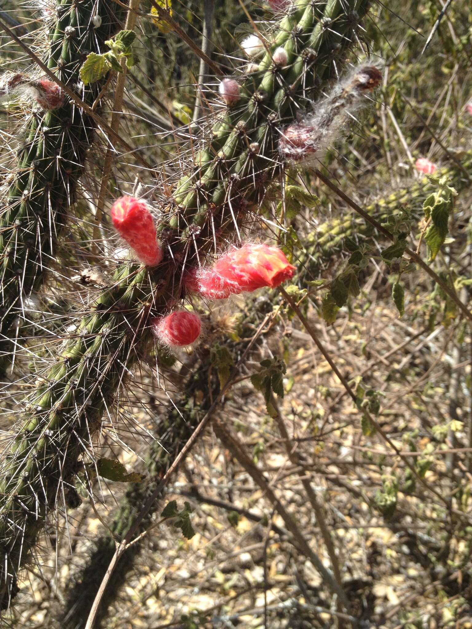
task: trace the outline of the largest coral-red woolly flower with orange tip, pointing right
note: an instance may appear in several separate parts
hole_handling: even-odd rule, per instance
[[[247,244],[221,255],[211,267],[188,273],[186,288],[206,299],[226,299],[291,279],[295,267],[278,247]]]

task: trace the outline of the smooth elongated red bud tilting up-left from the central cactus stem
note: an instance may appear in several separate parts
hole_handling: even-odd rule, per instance
[[[111,220],[140,262],[149,266],[159,264],[162,249],[156,242],[154,220],[144,201],[131,196],[116,199],[111,207]]]

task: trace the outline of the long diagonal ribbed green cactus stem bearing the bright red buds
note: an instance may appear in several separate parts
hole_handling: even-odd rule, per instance
[[[181,298],[184,269],[205,260],[217,238],[223,241],[235,230],[240,234],[270,182],[283,175],[282,126],[337,72],[367,9],[365,0],[295,1],[257,72],[242,82],[239,103],[216,121],[172,198],[162,201],[163,262],[121,264],[37,382],[1,470],[3,607],[13,598],[16,575],[59,496],[67,493],[103,413],[149,347],[150,321]],[[279,47],[288,54],[285,68],[272,61],[271,52]]]

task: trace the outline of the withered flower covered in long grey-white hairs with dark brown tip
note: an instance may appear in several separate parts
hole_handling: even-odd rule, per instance
[[[366,102],[364,94],[381,80],[378,68],[363,65],[335,84],[332,92],[315,104],[312,113],[281,132],[279,152],[283,159],[289,162],[320,159],[346,125],[348,116]]]

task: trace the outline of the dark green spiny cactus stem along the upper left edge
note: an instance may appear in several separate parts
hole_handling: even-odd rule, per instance
[[[116,30],[115,7],[110,0],[99,3],[100,21],[97,3],[92,0],[60,0],[57,4],[57,19],[48,31],[45,63],[67,86],[74,87],[79,82],[84,54],[97,50]],[[28,80],[17,74],[10,83],[25,81],[30,89],[35,89],[36,101],[42,109],[33,110],[26,120],[25,140],[2,201],[0,372],[3,373],[14,356],[13,323],[19,316],[25,317],[25,301],[41,286],[49,260],[55,255],[55,243],[74,202],[94,128],[89,116],[73,103],[62,96],[48,97],[48,92],[52,96],[59,92],[59,87],[51,81]],[[87,104],[94,103],[100,87],[96,84],[84,88],[81,96]]]

